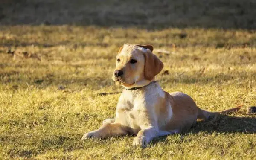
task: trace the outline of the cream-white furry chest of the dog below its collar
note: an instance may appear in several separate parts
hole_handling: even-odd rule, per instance
[[[159,99],[159,93],[151,90],[125,90],[119,98],[116,108],[116,120],[122,125],[134,130],[140,130],[149,119],[155,119],[154,105]]]

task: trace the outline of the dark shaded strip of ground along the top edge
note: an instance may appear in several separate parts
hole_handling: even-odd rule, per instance
[[[255,29],[254,0],[3,0],[1,25]]]

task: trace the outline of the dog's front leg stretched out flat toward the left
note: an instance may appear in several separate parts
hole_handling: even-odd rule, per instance
[[[130,133],[130,128],[122,126],[119,123],[106,123],[95,131],[84,134],[82,140],[87,138],[106,138],[123,136]]]

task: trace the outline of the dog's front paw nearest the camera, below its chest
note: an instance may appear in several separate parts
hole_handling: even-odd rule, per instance
[[[145,127],[140,130],[137,136],[134,138],[133,145],[140,145],[146,147],[146,145],[154,138],[158,136],[158,129],[153,126]]]

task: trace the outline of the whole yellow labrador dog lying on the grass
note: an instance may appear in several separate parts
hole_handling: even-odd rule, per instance
[[[208,112],[184,93],[163,91],[154,81],[163,63],[152,51],[151,45],[138,44],[125,44],[119,49],[112,78],[125,89],[116,106],[116,117],[106,119],[102,127],[84,134],[82,139],[134,134],[133,145],[145,147],[154,137],[186,131],[197,119],[240,109]]]

